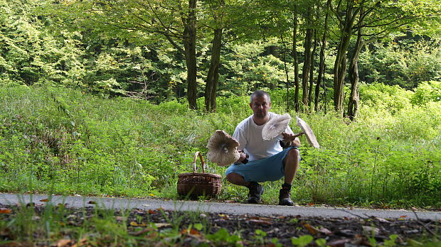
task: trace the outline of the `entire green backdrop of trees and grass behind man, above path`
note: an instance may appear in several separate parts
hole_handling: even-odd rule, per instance
[[[437,1],[0,8],[3,192],[176,198],[196,150],[233,133],[265,89],[322,145],[302,139],[297,202],[441,206]],[[279,184],[265,184],[265,202]],[[245,194],[224,181],[218,199]]]

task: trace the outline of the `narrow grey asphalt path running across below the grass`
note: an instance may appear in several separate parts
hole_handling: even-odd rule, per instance
[[[48,202],[46,202],[48,201]],[[65,207],[100,207],[102,209],[159,209],[211,212],[218,214],[260,215],[260,216],[322,216],[336,217],[379,217],[383,219],[432,219],[441,221],[441,212],[422,212],[393,209],[358,209],[348,207],[301,207],[278,206],[262,204],[239,204],[222,202],[176,201],[164,199],[127,199],[116,197],[82,197],[59,196],[45,194],[0,194],[0,204],[65,204]]]

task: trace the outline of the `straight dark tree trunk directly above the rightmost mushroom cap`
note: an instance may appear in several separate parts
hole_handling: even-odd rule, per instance
[[[311,8],[309,7],[307,12],[307,23],[310,24],[311,21]],[[306,37],[304,40],[304,62],[302,70],[302,104],[307,109],[308,107],[308,79],[309,70],[311,68],[311,46],[312,46],[312,28],[307,28]]]

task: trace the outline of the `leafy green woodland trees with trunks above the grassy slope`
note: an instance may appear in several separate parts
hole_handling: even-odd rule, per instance
[[[314,103],[320,111],[329,101],[355,118],[360,82],[413,89],[441,76],[435,1],[3,0],[0,6],[1,84],[62,84],[156,102],[186,98],[190,108],[206,111],[216,111],[217,96],[282,88],[287,109],[312,111]]]

